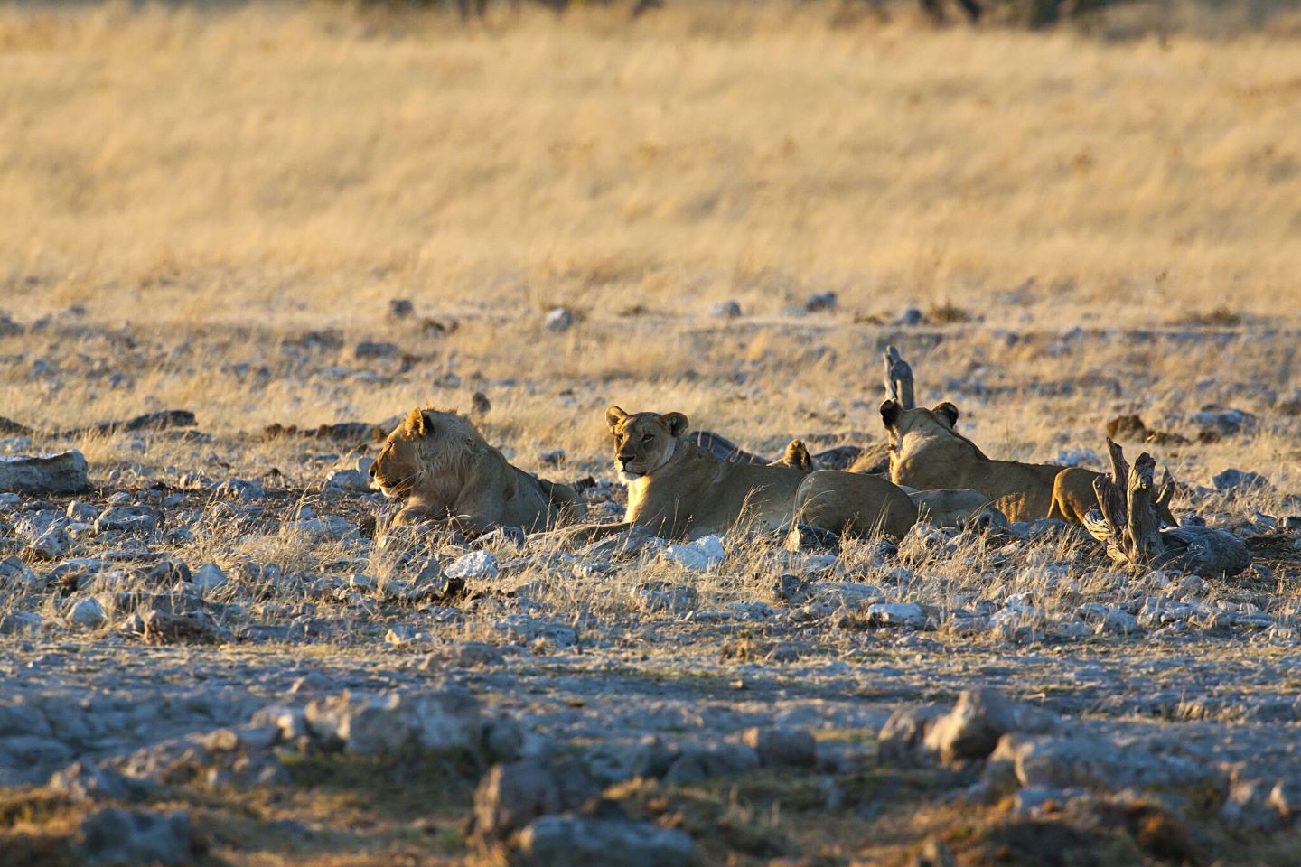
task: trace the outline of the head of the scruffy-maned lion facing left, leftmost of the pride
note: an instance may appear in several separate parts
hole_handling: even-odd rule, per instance
[[[416,408],[385,438],[371,478],[385,497],[402,499],[455,472],[481,442],[462,416]]]

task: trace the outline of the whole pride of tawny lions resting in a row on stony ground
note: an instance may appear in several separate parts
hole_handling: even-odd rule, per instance
[[[912,372],[894,347],[886,352],[886,394],[889,477],[859,467],[820,469],[799,439],[773,463],[726,460],[687,438],[690,422],[680,412],[630,413],[611,406],[605,421],[615,469],[628,486],[617,523],[579,523],[583,507],[574,489],[511,465],[454,412],[412,409],[385,439],[371,476],[385,497],[402,502],[396,524],[445,520],[470,533],[519,526],[556,530],[569,542],[634,529],[696,538],[735,526],[785,533],[798,525],[900,538],[920,519],[974,528],[1043,517],[1082,524],[1097,504],[1099,473],[990,459],[958,433],[952,403],[913,406]],[[1168,486],[1154,507],[1162,523],[1175,526],[1172,491]]]

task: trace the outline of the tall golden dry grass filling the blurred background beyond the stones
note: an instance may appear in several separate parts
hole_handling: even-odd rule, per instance
[[[826,289],[1002,309],[1033,278],[1045,316],[1294,316],[1292,35],[622,14],[5,8],[5,305],[160,326],[366,321],[393,295],[505,320],[774,315]]]

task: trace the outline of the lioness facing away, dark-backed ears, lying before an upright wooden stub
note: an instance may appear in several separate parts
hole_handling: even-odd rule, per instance
[[[990,498],[1010,521],[1033,521],[1053,511],[1053,482],[1062,467],[990,460],[959,434],[958,407],[904,409],[898,400],[881,404],[890,434],[890,478],[920,490],[973,487]]]

